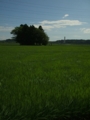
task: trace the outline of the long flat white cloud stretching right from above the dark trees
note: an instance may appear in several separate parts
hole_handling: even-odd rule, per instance
[[[44,29],[51,30],[53,28],[65,28],[66,26],[77,26],[77,25],[82,25],[84,23],[85,22],[81,22],[79,20],[56,20],[56,21],[44,20],[34,25],[36,27],[42,25]]]

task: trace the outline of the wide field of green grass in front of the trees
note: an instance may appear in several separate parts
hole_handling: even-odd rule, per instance
[[[88,120],[90,46],[0,46],[0,120]]]

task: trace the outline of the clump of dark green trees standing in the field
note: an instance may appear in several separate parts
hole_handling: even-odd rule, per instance
[[[21,45],[47,45],[49,41],[49,37],[42,26],[36,28],[34,25],[21,24],[19,27],[15,27],[11,34],[14,35],[13,38],[16,42]]]

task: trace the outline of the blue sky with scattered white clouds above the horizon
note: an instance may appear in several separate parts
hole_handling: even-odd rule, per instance
[[[0,0],[0,40],[20,24],[42,25],[50,41],[90,39],[90,0]]]

